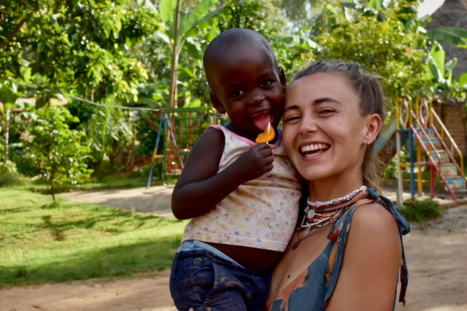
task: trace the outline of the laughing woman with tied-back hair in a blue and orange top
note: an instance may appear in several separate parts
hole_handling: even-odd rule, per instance
[[[410,227],[378,193],[378,80],[355,62],[316,62],[286,91],[283,141],[309,196],[274,270],[267,310],[394,310],[399,271],[405,303],[402,235]]]

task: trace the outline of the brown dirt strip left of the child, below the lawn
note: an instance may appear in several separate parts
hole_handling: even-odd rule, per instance
[[[0,290],[0,311],[177,311],[165,270],[109,283],[77,281]]]

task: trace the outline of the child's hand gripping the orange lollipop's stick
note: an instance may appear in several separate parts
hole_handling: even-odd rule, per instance
[[[243,153],[233,163],[241,183],[254,180],[272,170],[272,150],[268,144],[262,143]]]

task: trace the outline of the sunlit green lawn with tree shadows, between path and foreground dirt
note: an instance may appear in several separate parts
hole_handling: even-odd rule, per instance
[[[185,221],[0,188],[0,287],[170,267]]]

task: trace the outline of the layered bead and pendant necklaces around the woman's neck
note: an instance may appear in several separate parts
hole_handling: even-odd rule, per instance
[[[300,241],[316,233],[319,228],[325,227],[329,224],[332,224],[334,221],[336,221],[336,219],[344,213],[346,209],[345,207],[347,207],[347,205],[341,206],[341,204],[352,200],[357,194],[363,193],[365,191],[367,191],[367,187],[361,186],[359,189],[354,190],[345,196],[342,196],[342,197],[339,197],[333,200],[329,200],[329,201],[313,201],[312,202],[310,200],[310,197],[308,197],[308,200],[307,200],[308,206],[305,208],[305,215],[303,217],[303,221],[300,226],[301,229],[304,229],[303,235],[300,236],[300,232],[298,232],[298,241],[292,245],[292,249],[296,249]],[[333,207],[333,206],[335,206],[335,209],[326,210],[327,207]],[[320,210],[322,210],[322,212],[318,213]],[[326,212],[330,212],[330,211],[333,211],[333,212],[329,214],[325,214]],[[315,217],[320,217],[321,219],[315,219]],[[314,231],[311,235],[308,235],[311,229],[317,229],[317,230]]]

